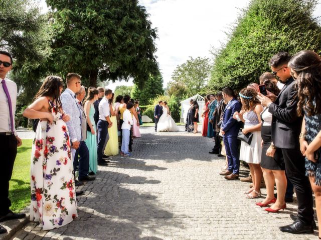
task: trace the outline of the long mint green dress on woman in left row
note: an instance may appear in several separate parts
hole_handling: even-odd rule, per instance
[[[89,119],[95,124],[94,120],[95,107],[94,104],[90,103]],[[87,139],[85,140],[89,150],[89,172],[97,173],[97,138],[96,138],[96,127],[94,127],[95,134],[91,134],[87,131]]]

